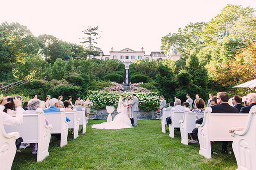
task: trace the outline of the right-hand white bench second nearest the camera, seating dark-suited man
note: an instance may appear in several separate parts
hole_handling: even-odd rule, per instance
[[[206,108],[202,124],[196,124],[200,143],[199,154],[211,158],[211,141],[233,141],[229,129],[236,126],[245,126],[248,113],[211,113]]]

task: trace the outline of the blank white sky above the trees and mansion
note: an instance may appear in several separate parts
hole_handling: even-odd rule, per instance
[[[105,55],[131,48],[160,51],[161,37],[192,22],[208,22],[227,4],[256,9],[256,0],[1,0],[0,23],[25,25],[35,35],[51,34],[79,44],[82,30],[99,25]]]

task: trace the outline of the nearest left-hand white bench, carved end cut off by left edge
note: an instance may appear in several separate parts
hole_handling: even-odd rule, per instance
[[[18,132],[6,133],[0,116],[0,169],[11,170],[16,154],[15,141],[20,137]]]

